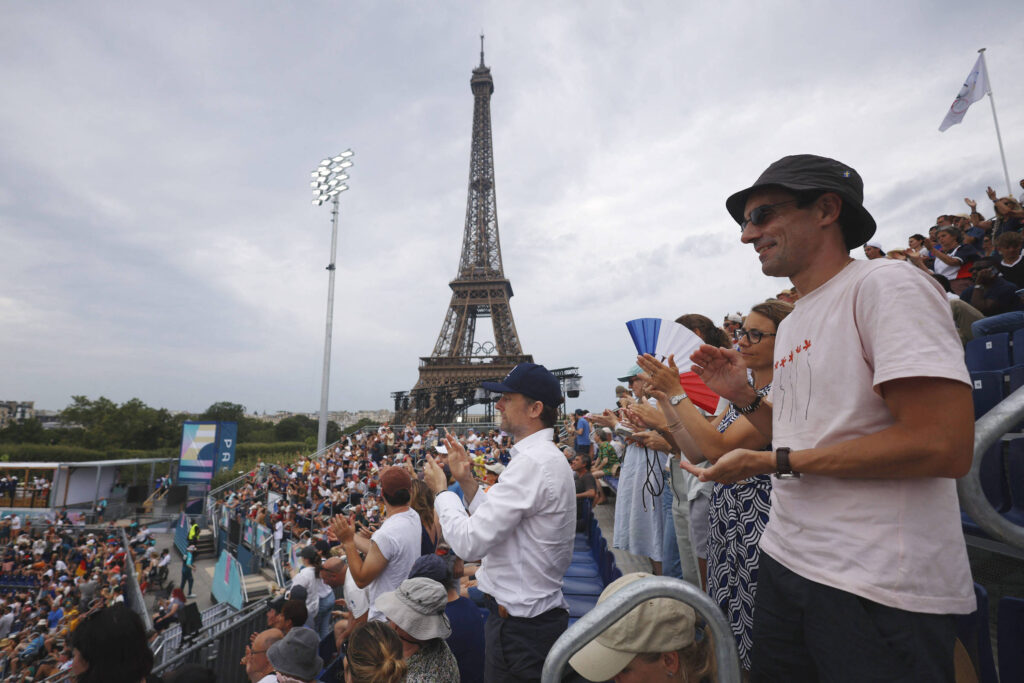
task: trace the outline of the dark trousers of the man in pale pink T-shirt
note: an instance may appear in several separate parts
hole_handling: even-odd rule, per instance
[[[871,602],[761,554],[751,680],[953,681],[955,617]]]

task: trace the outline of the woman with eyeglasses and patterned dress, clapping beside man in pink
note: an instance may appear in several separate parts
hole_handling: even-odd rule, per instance
[[[736,331],[739,354],[750,370],[759,397],[771,389],[775,364],[775,333],[779,323],[793,311],[783,301],[766,301],[751,309],[743,327]],[[787,361],[787,357],[779,362]],[[768,450],[769,440],[740,413],[729,408],[709,422],[683,395],[679,369],[670,356],[669,364],[651,355],[637,362],[651,385],[662,414],[640,408],[640,417],[652,428],[675,442],[688,462],[683,469],[699,474],[696,465],[716,462],[735,449]],[[746,412],[757,408],[760,398]],[[771,476],[758,475],[744,481],[716,483],[709,507],[708,593],[718,602],[729,620],[736,638],[743,669],[751,667],[751,634],[754,596],[757,591],[760,550],[758,543],[768,521]]]

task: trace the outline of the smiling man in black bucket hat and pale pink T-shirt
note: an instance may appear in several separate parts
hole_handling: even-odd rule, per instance
[[[785,157],[726,208],[762,271],[801,294],[766,400],[732,349],[691,356],[775,449],[683,461],[705,481],[776,475],[751,680],[952,681],[954,615],[975,609],[954,481],[974,413],[945,296],[906,263],[850,257],[874,219],[846,164]]]

